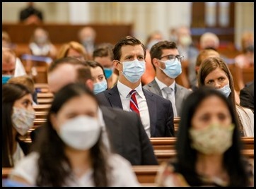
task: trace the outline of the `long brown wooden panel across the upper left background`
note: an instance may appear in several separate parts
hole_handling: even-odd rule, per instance
[[[54,44],[63,44],[69,41],[78,41],[78,31],[86,26],[91,26],[97,33],[96,44],[110,42],[115,44],[122,37],[132,35],[133,24],[65,24],[65,23],[42,23],[41,25],[25,25],[23,23],[2,23],[2,30],[8,32],[11,41],[16,44],[26,44],[30,41],[33,31],[38,26],[49,32],[50,39]],[[65,32],[63,32],[65,31]]]

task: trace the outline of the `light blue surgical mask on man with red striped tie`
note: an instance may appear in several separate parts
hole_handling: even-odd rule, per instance
[[[131,83],[136,83],[141,78],[141,75],[144,74],[146,69],[145,61],[138,61],[137,59],[134,61],[124,61],[122,62],[122,65],[122,74]]]

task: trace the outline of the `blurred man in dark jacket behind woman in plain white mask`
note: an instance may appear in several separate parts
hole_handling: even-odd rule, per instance
[[[64,85],[76,82],[86,83],[93,90],[90,66],[71,57],[56,60],[51,64],[48,70],[51,92],[55,93]],[[126,158],[132,165],[158,164],[151,142],[136,113],[105,106],[100,106],[100,112],[100,123],[103,130],[107,130],[103,133],[107,136],[103,136],[103,141],[110,145],[110,150]],[[31,139],[34,141],[39,133],[40,128],[35,129],[31,133]]]

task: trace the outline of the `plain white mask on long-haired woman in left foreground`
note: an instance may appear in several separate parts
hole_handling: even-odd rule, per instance
[[[97,118],[76,116],[60,126],[59,137],[76,150],[89,150],[98,141],[100,124]]]

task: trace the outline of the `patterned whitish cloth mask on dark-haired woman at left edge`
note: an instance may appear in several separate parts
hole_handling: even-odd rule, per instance
[[[35,111],[28,111],[26,109],[17,108],[13,106],[13,114],[11,115],[13,127],[21,135],[25,135],[30,128],[33,127],[35,120]]]

